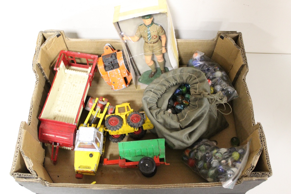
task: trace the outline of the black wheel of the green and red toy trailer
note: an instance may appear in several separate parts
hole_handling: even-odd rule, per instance
[[[157,172],[157,166],[151,157],[143,157],[139,161],[139,170],[141,171],[141,174],[145,177],[152,177]]]

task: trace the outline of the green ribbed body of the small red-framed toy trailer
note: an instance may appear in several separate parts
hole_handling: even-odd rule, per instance
[[[151,139],[118,143],[119,156],[129,161],[140,161],[143,157],[159,156],[165,159],[165,139]]]

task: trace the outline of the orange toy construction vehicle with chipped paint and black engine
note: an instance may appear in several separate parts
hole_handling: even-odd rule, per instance
[[[122,51],[114,50],[110,44],[104,46],[104,54],[98,58],[99,72],[112,90],[121,90],[129,86],[132,75]]]

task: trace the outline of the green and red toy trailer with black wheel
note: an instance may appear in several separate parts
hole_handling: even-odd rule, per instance
[[[104,159],[103,165],[118,164],[121,168],[136,168],[145,177],[152,177],[157,172],[157,166],[166,164],[165,139],[139,140],[119,142],[119,159]]]

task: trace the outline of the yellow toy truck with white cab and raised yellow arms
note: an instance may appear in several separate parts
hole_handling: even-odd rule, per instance
[[[114,110],[108,100],[103,97],[96,98],[95,100],[89,99],[86,108],[88,106],[91,109],[84,124],[77,131],[74,148],[74,169],[77,179],[82,179],[83,175],[96,175],[100,157],[104,154],[106,139],[104,125],[101,125],[101,122],[107,110],[109,113],[112,113]],[[89,123],[91,115],[93,115],[93,119]],[[96,118],[100,120],[98,124],[93,124]]]

